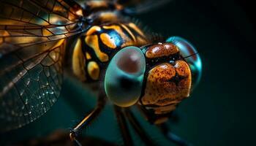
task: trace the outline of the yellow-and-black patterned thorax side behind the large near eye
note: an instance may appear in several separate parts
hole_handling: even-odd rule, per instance
[[[108,63],[121,48],[146,44],[143,31],[135,23],[91,26],[75,44],[72,69],[81,80],[98,80],[100,66]]]

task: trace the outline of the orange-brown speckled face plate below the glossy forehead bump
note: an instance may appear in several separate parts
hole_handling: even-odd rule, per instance
[[[141,101],[143,105],[157,105],[155,114],[170,112],[161,107],[170,104],[178,104],[189,96],[191,87],[191,72],[185,61],[176,61],[175,65],[168,63],[155,66],[148,72],[145,94]]]

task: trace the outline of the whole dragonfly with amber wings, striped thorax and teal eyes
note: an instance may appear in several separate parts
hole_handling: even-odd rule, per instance
[[[70,132],[75,144],[80,145],[79,132],[97,118],[108,99],[124,145],[132,145],[126,118],[146,144],[154,144],[129,110],[132,105],[171,141],[185,145],[168,136],[165,122],[200,80],[200,56],[181,37],[152,41],[151,34],[133,23],[128,15],[148,4],[157,5],[1,0],[0,131],[24,126],[47,112],[59,97],[65,68],[81,82],[99,83],[97,106]]]

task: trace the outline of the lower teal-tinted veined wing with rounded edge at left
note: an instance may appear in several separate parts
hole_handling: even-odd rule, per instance
[[[64,39],[30,57],[23,47],[0,59],[0,130],[18,128],[44,114],[59,96]],[[44,43],[46,45],[47,43]],[[37,45],[32,46],[34,49]],[[25,55],[28,53],[28,55]]]

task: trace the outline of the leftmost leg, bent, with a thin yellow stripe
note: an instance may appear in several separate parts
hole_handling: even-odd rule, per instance
[[[101,91],[99,93],[97,106],[94,107],[94,110],[92,110],[89,115],[86,115],[86,117],[83,118],[78,126],[75,126],[75,128],[70,131],[69,137],[72,142],[75,142],[75,145],[80,146],[80,142],[78,142],[78,139],[76,139],[76,137],[78,137],[78,134],[80,133],[80,131],[82,131],[83,128],[89,126],[91,122],[93,122],[93,120],[98,117],[99,113],[102,112],[103,107],[105,107],[105,99],[105,93]]]

